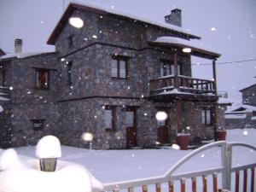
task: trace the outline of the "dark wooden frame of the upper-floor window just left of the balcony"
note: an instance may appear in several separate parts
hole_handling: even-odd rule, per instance
[[[124,56],[124,55],[112,55],[111,57],[111,78],[112,79],[129,79],[129,61],[130,57],[129,56]],[[116,61],[116,67],[117,67],[117,74],[116,76],[113,76],[112,74],[112,63],[113,61]],[[120,61],[124,61],[125,62],[125,77],[120,77]]]

